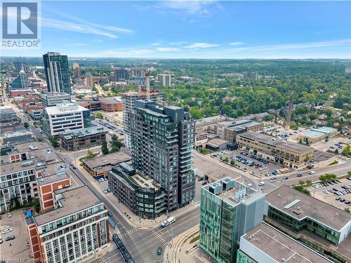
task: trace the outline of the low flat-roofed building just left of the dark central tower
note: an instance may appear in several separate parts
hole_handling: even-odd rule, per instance
[[[106,154],[83,161],[83,167],[87,172],[96,177],[107,177],[113,166],[119,163],[131,163],[131,156],[128,151],[120,150],[112,154]]]

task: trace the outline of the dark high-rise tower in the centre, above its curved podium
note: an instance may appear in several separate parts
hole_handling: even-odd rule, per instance
[[[135,169],[165,189],[168,211],[189,204],[195,194],[191,116],[183,108],[150,100],[136,100],[128,115]]]

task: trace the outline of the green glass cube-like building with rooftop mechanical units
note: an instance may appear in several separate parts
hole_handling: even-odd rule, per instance
[[[265,196],[225,177],[201,189],[200,248],[216,262],[235,262],[240,237],[263,220]]]

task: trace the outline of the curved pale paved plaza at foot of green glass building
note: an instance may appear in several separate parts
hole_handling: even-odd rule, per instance
[[[164,252],[166,263],[209,263],[211,257],[199,248],[199,224],[184,232],[167,245]]]

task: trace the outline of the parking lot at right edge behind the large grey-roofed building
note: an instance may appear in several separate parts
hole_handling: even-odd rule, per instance
[[[311,195],[340,209],[350,208],[351,177],[350,179],[333,180],[329,183],[313,184],[307,187]]]

